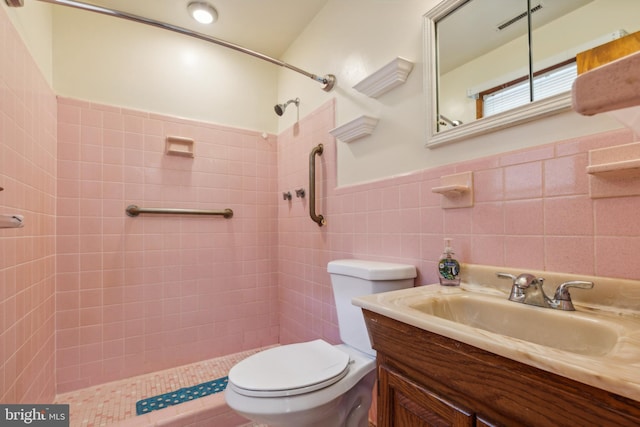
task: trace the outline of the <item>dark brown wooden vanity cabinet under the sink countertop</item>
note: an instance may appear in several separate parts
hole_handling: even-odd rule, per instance
[[[363,313],[378,352],[378,427],[640,425],[638,401]]]

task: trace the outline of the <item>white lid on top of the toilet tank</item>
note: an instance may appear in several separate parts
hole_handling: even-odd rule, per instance
[[[366,261],[361,259],[339,259],[327,264],[331,274],[359,277],[365,280],[401,280],[416,277],[416,267],[408,264]]]

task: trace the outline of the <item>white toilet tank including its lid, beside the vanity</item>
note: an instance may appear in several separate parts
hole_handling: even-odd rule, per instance
[[[351,304],[354,297],[413,287],[416,268],[358,259],[331,261],[327,265],[331,276],[333,297],[338,311],[340,339],[345,344],[375,356],[360,307]]]

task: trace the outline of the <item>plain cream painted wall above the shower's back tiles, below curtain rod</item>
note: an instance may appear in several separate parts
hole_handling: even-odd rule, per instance
[[[209,42],[109,16],[54,9],[59,95],[275,131],[278,67]]]

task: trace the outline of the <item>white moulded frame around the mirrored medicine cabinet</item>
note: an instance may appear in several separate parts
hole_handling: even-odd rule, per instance
[[[557,114],[571,109],[571,91],[530,102],[529,104],[514,108],[494,116],[477,119],[464,123],[455,128],[438,132],[438,70],[436,46],[436,23],[441,18],[453,12],[467,1],[473,0],[444,0],[433,9],[423,15],[424,42],[424,94],[426,97],[427,114],[427,148],[439,147],[451,142],[460,141],[495,132],[507,127],[516,126],[545,116]]]

